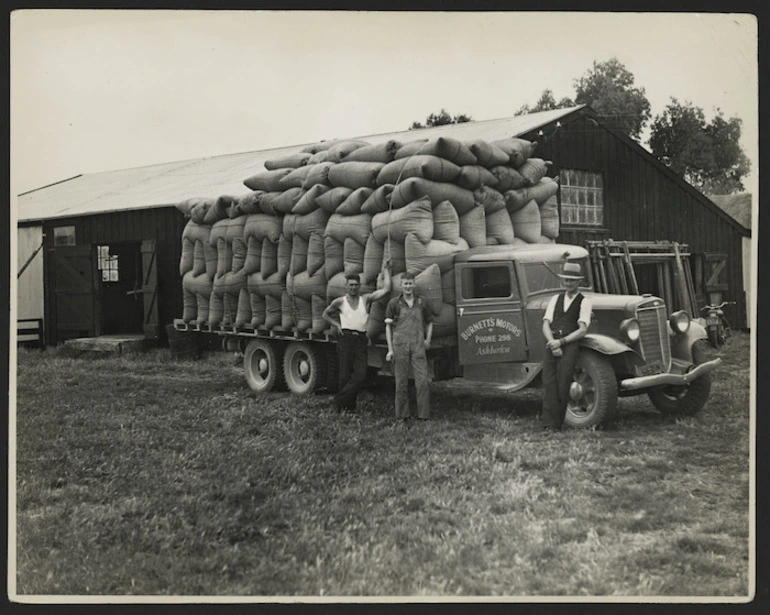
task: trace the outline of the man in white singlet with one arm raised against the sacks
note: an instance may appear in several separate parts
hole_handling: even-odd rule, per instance
[[[382,264],[379,280],[381,288],[359,296],[361,280],[357,273],[345,276],[345,295],[334,299],[323,311],[323,319],[338,331],[337,361],[339,364],[339,389],[334,396],[337,412],[352,412],[356,409],[358,392],[366,380],[367,337],[366,321],[369,306],[390,293],[390,261]],[[334,318],[334,314],[338,318]]]

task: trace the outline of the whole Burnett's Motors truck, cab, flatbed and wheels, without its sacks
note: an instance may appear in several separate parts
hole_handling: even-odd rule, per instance
[[[434,381],[462,378],[514,392],[538,385],[545,344],[542,318],[560,290],[557,274],[567,261],[590,273],[585,248],[567,244],[486,246],[465,250],[454,260],[455,334],[434,338],[428,351]],[[618,396],[647,394],[663,413],[692,415],[706,404],[711,372],[705,329],[684,311],[669,313],[649,294],[591,292],[590,276],[581,289],[593,303],[588,333],[570,388],[566,424],[593,427],[613,419]],[[288,388],[293,393],[334,389],[336,338],[299,331],[276,331],[188,324],[181,331],[204,331],[239,340],[246,382],[255,391]],[[383,338],[369,347],[370,369],[392,375]]]

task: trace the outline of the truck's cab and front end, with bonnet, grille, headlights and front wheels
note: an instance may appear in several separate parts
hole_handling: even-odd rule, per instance
[[[567,244],[486,246],[455,259],[455,375],[513,392],[539,384],[545,340],[543,314],[560,292],[564,263],[590,272],[588,252]],[[686,312],[669,313],[652,295],[580,292],[593,304],[580,340],[565,422],[591,427],[612,419],[619,395],[646,393],[667,413],[694,414],[708,400],[705,329]]]

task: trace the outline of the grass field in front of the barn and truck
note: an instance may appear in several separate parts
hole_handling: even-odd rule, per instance
[[[231,354],[20,351],[20,594],[747,596],[749,338],[697,416],[620,400],[537,429],[539,391],[390,385],[338,415]]]

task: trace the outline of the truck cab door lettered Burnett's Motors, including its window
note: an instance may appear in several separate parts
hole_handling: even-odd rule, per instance
[[[526,361],[524,314],[513,263],[455,267],[460,365]]]

